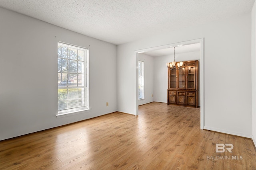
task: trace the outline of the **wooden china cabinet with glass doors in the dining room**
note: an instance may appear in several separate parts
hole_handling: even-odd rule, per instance
[[[178,70],[168,67],[167,91],[168,104],[198,107],[198,61],[184,61]]]

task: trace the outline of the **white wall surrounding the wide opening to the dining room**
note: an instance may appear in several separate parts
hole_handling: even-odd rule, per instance
[[[118,45],[118,111],[136,115],[136,50],[200,38],[204,38],[204,128],[252,137],[250,14]]]

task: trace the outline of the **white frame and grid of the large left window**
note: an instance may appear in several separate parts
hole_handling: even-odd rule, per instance
[[[73,61],[73,62],[77,62],[77,64],[78,64],[78,62],[83,63],[84,66],[82,67],[81,72],[77,71],[76,73],[69,72],[68,71],[68,66],[67,66],[66,72],[62,72],[64,74],[67,74],[66,85],[64,84],[64,86],[60,86],[59,74],[61,72],[58,69],[58,113],[57,113],[56,116],[89,110],[90,109],[90,102],[89,102],[90,101],[89,100],[89,49],[85,48],[85,47],[79,47],[79,46],[76,46],[76,45],[71,45],[71,44],[68,44],[68,43],[58,41],[58,48],[59,48],[59,46],[68,47],[68,48],[71,48],[71,49],[76,49],[77,50],[77,56],[78,56],[78,50],[79,51],[84,51],[84,60],[83,61],[79,60],[78,57],[77,57],[77,59],[68,59],[68,57],[63,58],[63,57],[59,57],[59,55],[57,57],[58,60],[59,59],[66,59],[67,60],[67,65],[68,65],[69,61]],[[77,70],[78,70],[78,65],[77,65]],[[68,80],[69,76],[68,76],[68,74],[76,74],[77,75],[76,76],[76,82],[74,84],[70,83],[71,84],[70,86],[69,86],[69,80]],[[79,82],[79,77],[80,76],[81,77],[84,76],[84,81]],[[72,99],[72,98],[68,98],[68,90],[70,90],[70,89],[73,89],[74,91],[76,89],[78,90],[77,98],[75,99],[75,100],[78,100],[77,107],[68,108],[68,104],[66,104],[67,105],[66,109],[59,109],[59,102],[64,101],[64,100],[59,100],[59,90],[60,89],[67,89],[67,98],[65,99],[66,101],[70,101]],[[79,89],[81,89],[81,90],[84,89],[84,93],[81,92],[81,95],[80,95],[79,94]],[[83,101],[83,99],[84,99],[84,101]]]

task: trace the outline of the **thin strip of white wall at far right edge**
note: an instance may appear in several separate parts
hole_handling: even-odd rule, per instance
[[[252,8],[252,140],[256,146],[256,2]]]

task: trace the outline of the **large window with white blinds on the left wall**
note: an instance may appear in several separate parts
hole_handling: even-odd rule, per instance
[[[89,109],[88,53],[58,42],[58,115]]]

